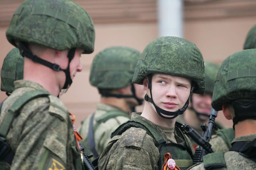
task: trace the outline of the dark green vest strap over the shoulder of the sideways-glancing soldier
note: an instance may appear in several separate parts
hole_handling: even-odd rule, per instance
[[[136,128],[142,128],[147,131],[147,134],[150,135],[152,138],[154,138],[155,144],[158,147],[160,144],[166,143],[166,141],[163,139],[163,137],[157,132],[157,130],[152,127],[150,124],[147,122],[141,120],[141,119],[133,119],[130,121],[127,121],[126,123],[120,125],[112,134],[111,138],[115,135],[120,135],[125,130],[131,127],[136,127]]]

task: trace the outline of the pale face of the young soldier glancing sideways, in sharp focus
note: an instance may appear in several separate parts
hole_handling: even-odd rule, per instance
[[[177,111],[183,108],[189,98],[191,80],[170,76],[167,74],[153,74],[152,98],[154,103],[167,111]],[[149,89],[147,94],[150,96]]]

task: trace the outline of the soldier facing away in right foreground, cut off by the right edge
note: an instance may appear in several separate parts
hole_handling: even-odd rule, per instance
[[[255,169],[256,168],[256,49],[247,49],[226,58],[217,73],[212,107],[222,110],[233,120],[235,139],[230,151],[204,156],[197,169]]]

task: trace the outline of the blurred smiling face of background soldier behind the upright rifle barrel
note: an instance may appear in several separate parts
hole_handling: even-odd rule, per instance
[[[210,114],[211,112],[211,93],[193,94],[192,95],[192,106],[198,113]],[[206,120],[208,117],[200,116],[200,119]]]

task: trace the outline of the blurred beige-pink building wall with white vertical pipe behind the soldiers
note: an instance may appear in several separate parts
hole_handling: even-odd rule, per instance
[[[105,47],[123,45],[138,49],[160,36],[177,36],[193,41],[205,61],[221,64],[231,53],[243,49],[245,37],[256,24],[255,0],[74,0],[93,19],[95,51],[83,55],[83,71],[77,73],[71,88],[61,96],[76,115],[76,126],[99,102],[96,88],[89,84],[90,65]],[[13,13],[23,0],[0,1],[0,65],[13,48],[5,32]],[[0,100],[6,98],[0,92]],[[137,108],[138,111],[142,107]],[[216,118],[227,127],[222,112]]]

